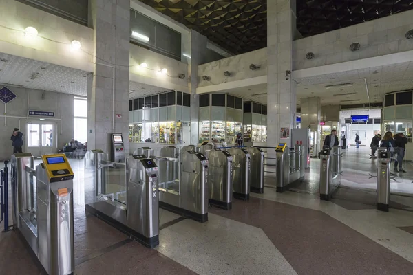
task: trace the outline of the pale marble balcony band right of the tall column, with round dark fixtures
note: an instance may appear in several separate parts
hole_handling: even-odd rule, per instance
[[[319,67],[413,50],[413,41],[405,38],[406,32],[412,29],[413,10],[410,10],[298,39],[293,42],[293,69]],[[351,52],[351,43],[359,43],[360,49]],[[315,58],[306,59],[308,52],[313,52]]]

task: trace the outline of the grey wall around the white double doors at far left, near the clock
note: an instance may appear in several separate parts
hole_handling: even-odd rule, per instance
[[[40,117],[29,117],[30,111],[52,111],[54,112],[54,120],[47,120],[51,124],[56,124],[55,133],[57,133],[57,148],[58,150],[70,142],[74,135],[74,96],[71,94],[60,94],[53,91],[41,91],[36,89],[26,89],[21,87],[7,86],[17,98],[14,98],[7,104],[6,125],[4,123],[4,115],[0,116],[0,159],[10,159],[13,154],[12,141],[10,137],[14,128],[19,128],[23,135],[27,135],[26,123],[36,122]],[[62,100],[60,100],[60,96]],[[1,108],[3,103],[0,104]],[[62,111],[62,112],[61,112]],[[62,115],[63,120],[60,119]],[[8,116],[20,117],[10,118]],[[61,127],[62,126],[62,127]],[[62,131],[61,131],[62,128]],[[25,140],[25,139],[24,139]],[[26,142],[26,140],[25,140]],[[25,145],[24,145],[25,146]],[[24,148],[23,146],[23,148]],[[24,150],[24,149],[23,149]]]

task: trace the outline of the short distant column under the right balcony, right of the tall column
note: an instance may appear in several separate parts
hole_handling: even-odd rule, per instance
[[[320,120],[320,98],[301,98],[301,128],[310,128],[319,133]]]

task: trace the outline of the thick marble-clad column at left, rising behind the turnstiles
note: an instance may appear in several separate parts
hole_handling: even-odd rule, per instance
[[[87,146],[110,153],[110,133],[129,152],[129,0],[92,0],[94,76],[87,90]]]

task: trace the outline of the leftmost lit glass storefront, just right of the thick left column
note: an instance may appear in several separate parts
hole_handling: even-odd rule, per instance
[[[190,94],[169,91],[129,100],[129,142],[181,144],[190,140]]]

